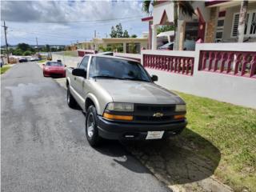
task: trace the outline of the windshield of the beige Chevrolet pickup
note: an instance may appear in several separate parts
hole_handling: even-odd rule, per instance
[[[89,77],[150,82],[150,78],[141,64],[118,58],[93,57]]]

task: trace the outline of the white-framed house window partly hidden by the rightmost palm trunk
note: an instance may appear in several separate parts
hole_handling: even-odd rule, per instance
[[[231,38],[238,36],[239,13],[234,14]],[[246,37],[256,36],[256,11],[248,11],[246,14],[246,26],[244,34]]]

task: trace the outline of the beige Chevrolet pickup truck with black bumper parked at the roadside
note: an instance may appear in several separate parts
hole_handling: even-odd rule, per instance
[[[186,103],[156,85],[140,62],[91,54],[66,70],[66,100],[86,113],[91,146],[106,139],[162,139],[186,127]]]

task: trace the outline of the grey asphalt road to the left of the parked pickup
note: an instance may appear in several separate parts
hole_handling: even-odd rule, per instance
[[[2,191],[169,191],[119,142],[90,147],[84,114],[35,62],[1,80]]]

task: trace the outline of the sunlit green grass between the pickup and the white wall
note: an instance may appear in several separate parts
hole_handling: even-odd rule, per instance
[[[221,153],[214,175],[235,191],[256,191],[256,110],[178,94],[187,104],[187,128],[206,138]],[[197,146],[198,154],[219,161],[204,140],[198,140],[189,131],[182,136]]]

